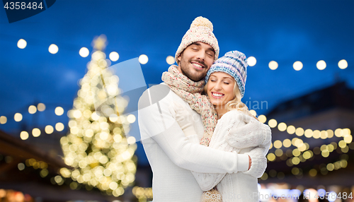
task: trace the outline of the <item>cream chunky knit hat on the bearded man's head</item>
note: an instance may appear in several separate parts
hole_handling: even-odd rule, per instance
[[[182,38],[182,42],[179,45],[176,52],[176,62],[179,63],[178,57],[183,52],[183,50],[194,42],[203,42],[209,44],[215,51],[214,60],[219,57],[219,44],[217,43],[217,38],[212,32],[213,26],[210,20],[199,16],[195,18],[190,25],[190,29],[185,32],[185,35]]]

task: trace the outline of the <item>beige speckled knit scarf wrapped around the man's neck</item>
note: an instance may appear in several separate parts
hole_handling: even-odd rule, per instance
[[[162,81],[169,85],[169,88],[188,102],[190,108],[202,116],[204,135],[200,140],[201,145],[209,146],[212,133],[217,125],[217,112],[209,100],[209,97],[201,95],[204,81],[192,81],[178,71],[176,65],[169,67],[169,71],[162,73]]]

